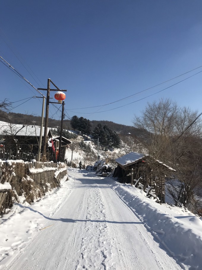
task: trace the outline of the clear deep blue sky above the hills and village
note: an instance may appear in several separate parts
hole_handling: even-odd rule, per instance
[[[202,65],[202,1],[7,0],[0,7],[0,55],[36,88],[46,88],[50,78],[67,89],[66,119],[132,125],[134,113],[160,98],[202,111],[202,72],[154,94],[202,68],[101,106]],[[38,95],[2,63],[0,74],[0,100]],[[41,102],[31,99],[13,111],[41,115]],[[92,106],[100,107],[81,109]],[[59,119],[61,113],[50,105],[52,115]]]

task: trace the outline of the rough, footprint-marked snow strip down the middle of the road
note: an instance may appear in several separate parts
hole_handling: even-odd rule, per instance
[[[86,194],[86,224],[79,250],[80,256],[75,269],[107,269],[105,261],[112,248],[108,241],[108,226],[105,222],[105,207],[100,190],[96,184],[91,186]]]

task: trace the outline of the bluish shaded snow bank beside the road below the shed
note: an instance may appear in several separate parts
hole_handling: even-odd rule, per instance
[[[199,217],[188,210],[152,202],[130,185],[115,183],[113,189],[185,269],[202,269]]]

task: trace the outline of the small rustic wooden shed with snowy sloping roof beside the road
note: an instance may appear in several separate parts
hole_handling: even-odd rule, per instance
[[[135,186],[140,183],[143,185],[143,190],[152,187],[155,194],[160,199],[160,202],[165,202],[165,175],[167,176],[175,170],[159,160],[154,159],[149,155],[142,153],[131,152],[116,159],[117,167],[113,177],[119,177],[123,183],[131,182],[131,172]],[[132,170],[133,169],[133,170]]]

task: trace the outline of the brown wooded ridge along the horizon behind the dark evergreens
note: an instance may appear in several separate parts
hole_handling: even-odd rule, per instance
[[[36,126],[40,126],[40,122],[41,122],[41,117],[40,116],[33,116],[33,115],[27,115],[27,114],[23,114],[23,113],[5,113],[2,112],[0,113],[0,120],[1,121],[7,121],[13,124],[34,124]],[[45,118],[44,118],[45,121]],[[112,121],[107,121],[107,120],[92,120],[91,124],[92,124],[92,129],[94,129],[97,124],[101,123],[102,126],[107,125],[110,129],[116,131],[117,133],[121,133],[122,135],[126,135],[127,133],[131,133],[132,135],[135,136],[140,136],[141,132],[139,129],[134,128],[132,126],[126,126],[126,125],[122,125],[122,124],[116,124]],[[60,120],[56,120],[56,119],[52,119],[49,118],[48,119],[48,127],[50,128],[56,128],[56,127],[60,127]],[[63,128],[64,129],[68,129],[68,130],[72,130],[72,127],[70,125],[70,119],[64,119],[63,122]]]

